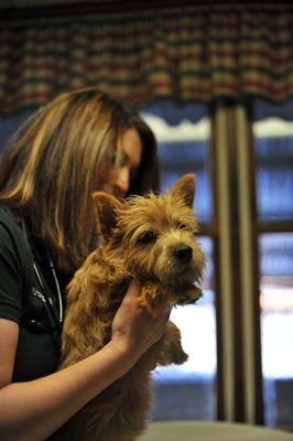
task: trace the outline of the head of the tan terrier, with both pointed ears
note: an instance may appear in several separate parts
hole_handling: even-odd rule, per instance
[[[181,178],[165,194],[126,201],[94,194],[101,245],[121,256],[138,280],[159,280],[173,291],[198,290],[204,255],[196,240],[195,178]],[[197,288],[196,288],[197,287]],[[196,298],[194,299],[196,300]],[[178,298],[176,303],[189,303]]]

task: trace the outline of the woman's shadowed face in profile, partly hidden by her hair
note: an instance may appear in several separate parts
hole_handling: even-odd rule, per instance
[[[119,165],[115,166],[104,185],[104,191],[118,197],[123,197],[128,193],[130,181],[138,172],[141,157],[142,144],[140,136],[135,129],[127,129],[120,138],[121,159]]]

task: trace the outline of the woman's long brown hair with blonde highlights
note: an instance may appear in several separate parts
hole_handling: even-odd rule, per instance
[[[138,112],[96,88],[65,93],[40,109],[0,161],[0,200],[18,209],[62,269],[76,269],[93,250],[91,194],[115,164],[119,137],[135,128],[143,153],[131,194],[159,187],[156,143]]]

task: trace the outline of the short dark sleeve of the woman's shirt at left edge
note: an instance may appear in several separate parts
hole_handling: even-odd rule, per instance
[[[0,224],[0,318],[20,323],[23,282],[13,239]]]

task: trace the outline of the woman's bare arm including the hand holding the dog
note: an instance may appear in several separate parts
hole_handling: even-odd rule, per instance
[[[28,383],[10,383],[18,325],[2,321],[0,378],[0,440],[42,441],[54,433],[83,406],[123,376],[165,331],[170,311],[153,316],[139,306],[137,282],[128,292],[112,322],[112,337],[98,353],[55,374]],[[8,343],[7,343],[8,342]],[[4,346],[10,351],[4,351]],[[10,354],[8,356],[8,354]],[[14,355],[13,355],[14,356]]]

